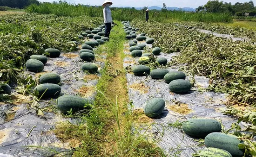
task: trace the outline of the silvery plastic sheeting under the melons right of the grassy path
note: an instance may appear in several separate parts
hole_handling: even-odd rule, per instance
[[[127,45],[125,45],[128,47]],[[152,45],[147,45],[152,47]],[[129,47],[128,47],[129,48]],[[125,54],[130,54],[127,50],[124,51]],[[156,57],[165,57],[168,61],[171,60],[176,53],[163,54]],[[128,66],[133,66],[138,64],[137,58],[126,57],[124,58],[123,66],[126,68]],[[178,71],[179,66],[171,66],[168,68],[169,71]],[[189,80],[187,76],[187,79]],[[129,99],[133,102],[133,109],[143,109],[145,102],[150,98],[161,97],[166,102],[166,107],[162,113],[161,118],[154,119],[153,125],[147,130],[147,133],[153,135],[152,138],[157,140],[157,144],[172,157],[192,157],[192,154],[197,152],[204,147],[197,147],[198,142],[194,141],[194,138],[185,135],[180,129],[169,126],[171,123],[175,123],[177,120],[182,122],[190,118],[209,118],[222,120],[222,124],[225,128],[230,128],[231,124],[236,122],[237,119],[228,115],[223,115],[221,109],[225,109],[226,106],[223,104],[226,101],[225,94],[217,94],[214,92],[199,92],[198,87],[207,88],[209,86],[209,79],[203,76],[195,75],[195,87],[191,89],[188,94],[175,94],[171,93],[168,89],[168,84],[164,80],[153,80],[150,76],[135,76],[128,73],[126,75],[128,81],[128,95]],[[142,93],[134,88],[130,88],[131,85],[143,83],[148,86],[148,93]],[[189,109],[192,110],[191,113],[182,115],[176,113],[169,108],[175,105],[174,102],[180,102],[187,104]],[[242,127],[246,124],[241,123]],[[143,126],[144,129],[148,129],[148,126]],[[143,130],[143,129],[142,129]],[[144,131],[145,131],[144,130]],[[143,132],[144,133],[144,132]],[[176,155],[176,156],[175,156]]]

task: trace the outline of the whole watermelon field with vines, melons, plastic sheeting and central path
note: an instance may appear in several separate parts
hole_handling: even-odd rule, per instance
[[[0,16],[0,157],[256,156],[254,30],[47,7]]]

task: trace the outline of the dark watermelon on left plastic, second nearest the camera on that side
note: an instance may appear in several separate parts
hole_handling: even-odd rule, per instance
[[[34,90],[39,92],[39,98],[54,98],[61,94],[61,87],[53,83],[40,84]]]

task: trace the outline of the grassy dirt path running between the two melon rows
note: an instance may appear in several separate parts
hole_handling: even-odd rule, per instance
[[[73,157],[163,157],[162,150],[145,139],[146,135],[131,132],[135,117],[128,109],[128,91],[122,67],[125,33],[121,23],[116,23],[119,26],[111,32],[110,41],[95,52],[105,51],[108,56],[97,84],[94,109],[80,117],[81,123],[62,123],[54,132],[63,142],[71,141],[75,148]]]

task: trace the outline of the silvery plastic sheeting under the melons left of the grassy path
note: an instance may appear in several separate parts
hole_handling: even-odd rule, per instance
[[[69,58],[66,57],[67,54],[76,54],[77,56]],[[105,65],[104,59],[106,55],[95,56],[95,63],[100,70]],[[97,59],[100,62],[97,62]],[[77,89],[80,87],[95,87],[98,82],[98,80],[87,80],[85,82],[83,78],[87,74],[81,70],[83,63],[79,57],[79,52],[65,53],[65,55],[61,53],[61,56],[58,58],[48,58],[43,72],[54,72],[61,76],[62,94],[77,95],[79,94]],[[27,71],[26,73],[31,74],[35,78],[35,73]],[[101,75],[98,74],[98,76]],[[14,89],[13,92],[15,92]],[[94,100],[95,95],[96,91],[90,94],[88,99]],[[50,100],[41,100],[39,108],[42,109],[49,105],[55,106],[56,98],[52,101]],[[64,119],[61,117],[61,114],[51,112],[44,112],[44,116],[37,116],[34,108],[27,105],[28,103],[0,105],[0,157],[53,157],[56,154],[59,154],[61,157],[70,157],[72,154],[71,148],[68,144],[61,143],[51,131],[58,122],[68,120],[71,123],[76,123],[77,120]],[[15,113],[15,115],[11,121],[6,122],[8,113]]]

